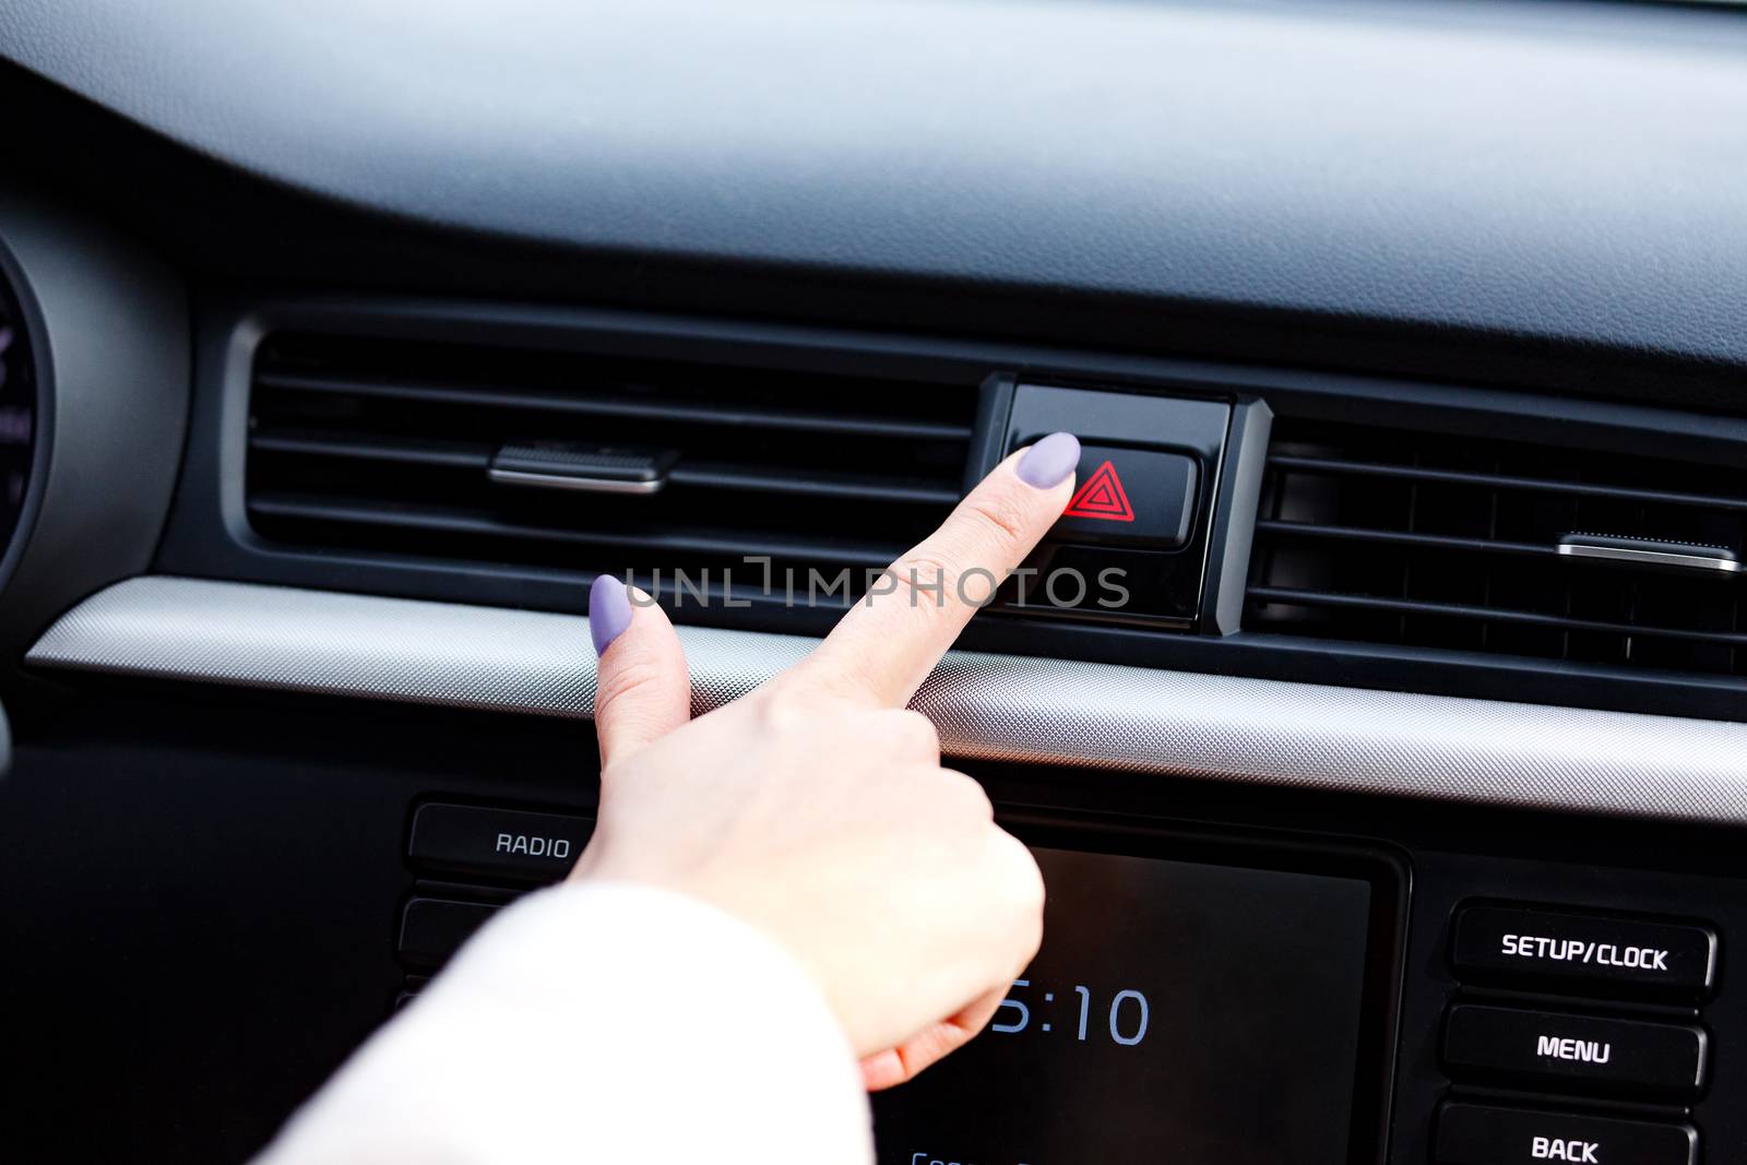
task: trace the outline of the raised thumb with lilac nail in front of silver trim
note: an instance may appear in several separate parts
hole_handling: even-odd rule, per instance
[[[692,718],[692,676],[667,613],[611,575],[589,587],[589,638],[601,657],[594,730],[606,769]]]

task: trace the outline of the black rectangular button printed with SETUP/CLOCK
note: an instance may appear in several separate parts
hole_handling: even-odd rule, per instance
[[[1717,936],[1684,922],[1637,922],[1536,906],[1462,906],[1450,957],[1474,980],[1523,980],[1579,994],[1703,997]]]

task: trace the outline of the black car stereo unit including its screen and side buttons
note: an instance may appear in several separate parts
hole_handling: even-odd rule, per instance
[[[570,866],[590,819],[552,809],[412,809],[397,1006]],[[1329,833],[1010,807],[1043,948],[980,1039],[875,1097],[882,1165],[1693,1165],[1738,1137],[1740,884],[1581,861],[1619,852],[1593,823],[1452,852],[1415,810]]]

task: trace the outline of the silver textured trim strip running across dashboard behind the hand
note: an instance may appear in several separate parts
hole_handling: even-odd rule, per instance
[[[694,709],[812,639],[685,627]],[[37,667],[587,718],[577,615],[133,578],[61,617]],[[1747,725],[954,651],[915,707],[947,753],[1590,814],[1747,823]]]

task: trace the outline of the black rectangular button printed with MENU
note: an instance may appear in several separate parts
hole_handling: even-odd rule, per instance
[[[1452,1076],[1508,1076],[1551,1092],[1691,1097],[1705,1085],[1705,1029],[1459,1003],[1443,1058]]]

